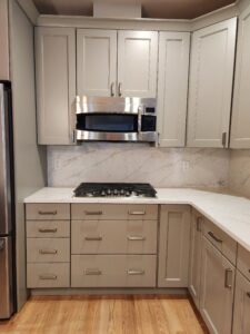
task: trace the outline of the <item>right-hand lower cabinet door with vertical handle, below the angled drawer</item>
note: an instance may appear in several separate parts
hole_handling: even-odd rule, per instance
[[[203,236],[200,312],[212,334],[231,333],[234,272],[232,264]]]

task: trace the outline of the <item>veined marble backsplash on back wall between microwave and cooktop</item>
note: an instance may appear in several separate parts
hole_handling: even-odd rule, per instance
[[[48,147],[48,186],[81,181],[142,181],[154,187],[228,187],[224,149],[154,148],[147,144],[91,143]]]

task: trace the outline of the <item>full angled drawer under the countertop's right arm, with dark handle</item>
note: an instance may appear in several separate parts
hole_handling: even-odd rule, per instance
[[[232,264],[236,265],[236,240],[206,218],[203,224],[203,234]]]

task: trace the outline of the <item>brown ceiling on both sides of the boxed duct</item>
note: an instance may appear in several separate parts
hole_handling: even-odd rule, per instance
[[[143,18],[193,19],[236,0],[108,0],[108,2],[141,3]],[[43,14],[92,16],[93,11],[93,0],[33,0],[33,3]]]

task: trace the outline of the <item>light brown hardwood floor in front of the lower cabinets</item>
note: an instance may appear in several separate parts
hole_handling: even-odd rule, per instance
[[[0,333],[202,334],[188,298],[173,296],[36,296]]]

